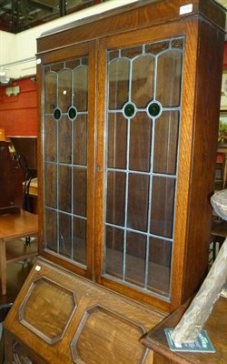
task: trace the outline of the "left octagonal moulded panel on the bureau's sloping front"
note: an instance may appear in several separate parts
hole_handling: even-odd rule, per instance
[[[36,279],[19,308],[19,320],[49,344],[60,340],[76,307],[74,292],[48,278]]]

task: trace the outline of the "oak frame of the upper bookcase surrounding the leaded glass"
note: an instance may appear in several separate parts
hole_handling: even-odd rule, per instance
[[[183,5],[187,5],[187,2],[178,0],[174,2],[165,0],[141,1],[139,4],[122,7],[111,13],[96,15],[47,32],[37,42],[37,56],[41,60],[41,64],[37,68],[39,119],[41,121],[38,153],[39,180],[41,181],[39,186],[40,251],[45,258],[62,264],[64,268],[94,279],[99,284],[114,289],[127,297],[166,311],[173,311],[179,307],[199,288],[208,268],[209,224],[212,215],[209,198],[212,195],[214,184],[222,77],[222,45],[224,40],[222,8],[210,0],[193,0],[192,12],[180,15],[180,6]],[[144,43],[152,44],[169,39],[169,37],[178,36],[183,36],[185,43],[174,224],[173,217],[170,217],[171,214],[169,213],[169,220],[172,221],[174,230],[172,286],[169,298],[160,299],[156,296],[156,291],[147,294],[143,289],[136,290],[130,284],[122,283],[120,279],[110,279],[108,275],[104,274],[107,134],[105,117],[106,95],[108,94],[106,50]],[[48,67],[50,64],[53,67],[54,65],[59,67],[64,61],[72,61],[75,57],[84,55],[88,55],[89,59],[86,186],[88,205],[86,211],[87,255],[85,268],[83,265],[74,264],[67,257],[61,258],[59,254],[54,254],[51,249],[44,248],[44,184],[42,182],[44,177],[42,153],[45,147],[42,122],[44,67]],[[215,72],[211,72],[211,69]],[[167,87],[163,80],[161,81],[160,90],[165,95]],[[168,81],[170,81],[170,77]],[[65,135],[67,133],[68,131],[65,132]],[[176,136],[174,136],[174,140],[176,140]],[[54,139],[47,143],[48,153],[54,153],[53,141]],[[156,147],[157,156],[162,156],[162,143],[160,145],[159,149]],[[143,149],[143,147],[143,141],[141,141],[138,149]],[[147,161],[144,163],[146,164]],[[47,181],[45,185],[48,186]],[[60,187],[62,185],[60,183]],[[134,183],[134,185],[136,184]],[[64,186],[60,189],[63,190]],[[131,191],[132,200],[133,189]],[[63,192],[59,194],[59,198],[65,197],[60,198],[60,200],[70,201],[68,192],[68,190],[64,190],[64,194]],[[46,196],[50,197],[51,203],[53,202],[53,194],[55,194],[55,186],[49,190],[47,188]],[[162,195],[161,192],[160,194]],[[138,210],[141,210],[143,214],[146,203],[143,201],[142,206],[138,207]],[[137,205],[140,204],[137,203]],[[171,209],[171,207],[169,208]],[[131,210],[130,213],[134,217],[136,207],[133,206],[133,203]],[[162,216],[163,211],[159,207],[158,201],[155,204],[155,211],[157,211],[157,216]],[[48,227],[56,226],[54,218],[53,220],[48,219],[49,221]],[[162,230],[160,222],[157,224],[158,230]],[[168,234],[170,234],[169,231]],[[56,229],[55,231],[53,229],[52,233],[51,237],[54,240]],[[143,254],[143,251],[140,254]],[[168,257],[165,258],[168,260]]]

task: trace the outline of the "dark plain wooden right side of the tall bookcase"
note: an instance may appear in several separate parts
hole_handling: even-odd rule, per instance
[[[208,268],[214,169],[222,79],[223,34],[201,21],[194,109],[192,175],[183,301],[202,283]]]

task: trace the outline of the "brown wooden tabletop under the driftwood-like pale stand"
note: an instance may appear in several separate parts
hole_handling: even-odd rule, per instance
[[[148,332],[143,339],[143,344],[153,349],[153,364],[226,364],[227,363],[227,298],[219,298],[212,309],[210,318],[204,325],[215,353],[188,353],[171,351],[169,349],[164,329],[174,328],[186,310],[186,305],[176,309],[161,324]]]

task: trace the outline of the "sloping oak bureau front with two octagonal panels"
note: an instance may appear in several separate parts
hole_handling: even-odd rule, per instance
[[[152,364],[140,339],[164,317],[38,258],[5,319],[5,364]]]

